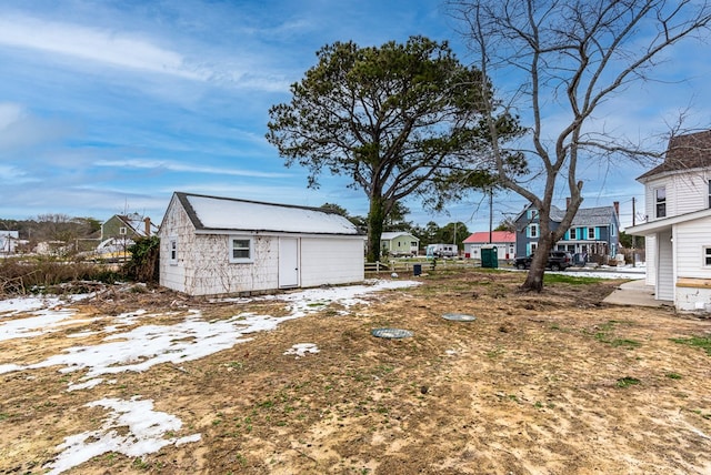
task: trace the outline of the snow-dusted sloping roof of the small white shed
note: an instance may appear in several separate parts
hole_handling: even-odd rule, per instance
[[[181,192],[176,192],[174,196],[198,231],[359,234],[358,228],[348,219],[319,208]]]

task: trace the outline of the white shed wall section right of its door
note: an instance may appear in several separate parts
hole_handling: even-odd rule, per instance
[[[302,286],[346,284],[364,279],[361,236],[301,239]]]

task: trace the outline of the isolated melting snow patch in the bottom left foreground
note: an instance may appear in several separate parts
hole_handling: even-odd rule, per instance
[[[200,434],[163,438],[168,432],[179,431],[182,422],[171,414],[153,411],[151,400],[139,401],[138,396],[130,401],[103,398],[86,406],[106,407],[111,410],[111,413],[100,429],[66,437],[57,447],[62,452],[49,465],[49,474],[60,474],[108,452],[140,457],[158,452],[167,445],[182,445],[201,438]],[[124,435],[119,434],[120,427],[128,427],[128,432]]]

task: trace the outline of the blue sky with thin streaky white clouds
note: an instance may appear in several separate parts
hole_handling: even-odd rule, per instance
[[[27,1],[0,3],[0,218],[61,213],[100,221],[139,212],[160,222],[173,191],[319,206],[364,215],[368,204],[342,178],[308,190],[266,139],[269,107],[327,43],[360,46],[423,34],[449,40],[470,62],[455,22],[428,0]],[[600,123],[663,149],[680,111],[707,127],[707,44],[684,43],[662,64],[664,82],[635,85],[601,110]],[[675,82],[679,77],[689,78]],[[508,78],[510,80],[510,78]],[[550,118],[551,121],[555,117]],[[632,198],[643,212],[639,165],[589,163],[583,206]],[[565,196],[557,196],[564,205]],[[524,202],[494,200],[494,225]],[[489,226],[488,201],[472,195],[409,220]]]

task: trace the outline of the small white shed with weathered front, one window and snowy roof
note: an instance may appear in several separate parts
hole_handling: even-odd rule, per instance
[[[189,295],[364,279],[364,236],[318,208],[176,192],[159,236],[160,284]]]

